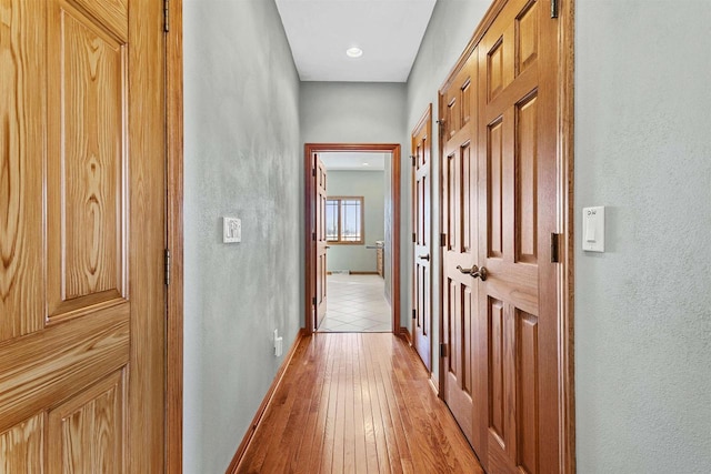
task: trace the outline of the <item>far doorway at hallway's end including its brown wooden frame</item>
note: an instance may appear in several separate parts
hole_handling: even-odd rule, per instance
[[[352,184],[348,183],[348,177],[336,180],[346,181],[343,192],[332,189],[336,194],[330,194],[327,191],[329,167],[323,164],[322,158],[331,163],[334,173],[340,173],[344,170],[332,163],[340,161],[340,168],[353,168],[344,167],[343,162],[363,154],[369,157],[368,165],[382,159],[383,169],[389,170],[384,174],[390,174],[389,192],[383,193],[383,221],[387,224],[382,232],[375,229],[375,233],[368,233],[364,196],[348,188]],[[363,167],[362,161],[359,165]],[[326,331],[400,333],[400,145],[308,143],[304,180],[307,332],[313,333],[321,327]],[[357,229],[358,223],[364,224],[363,229]],[[328,254],[332,251],[340,255],[333,254],[334,262],[329,266]],[[331,321],[327,313],[329,283],[333,290]],[[380,300],[378,294],[385,297]],[[388,296],[390,311],[383,315],[388,311]],[[346,306],[349,301],[353,307]],[[349,320],[347,314],[354,317]],[[357,321],[363,320],[364,315],[370,317]]]

